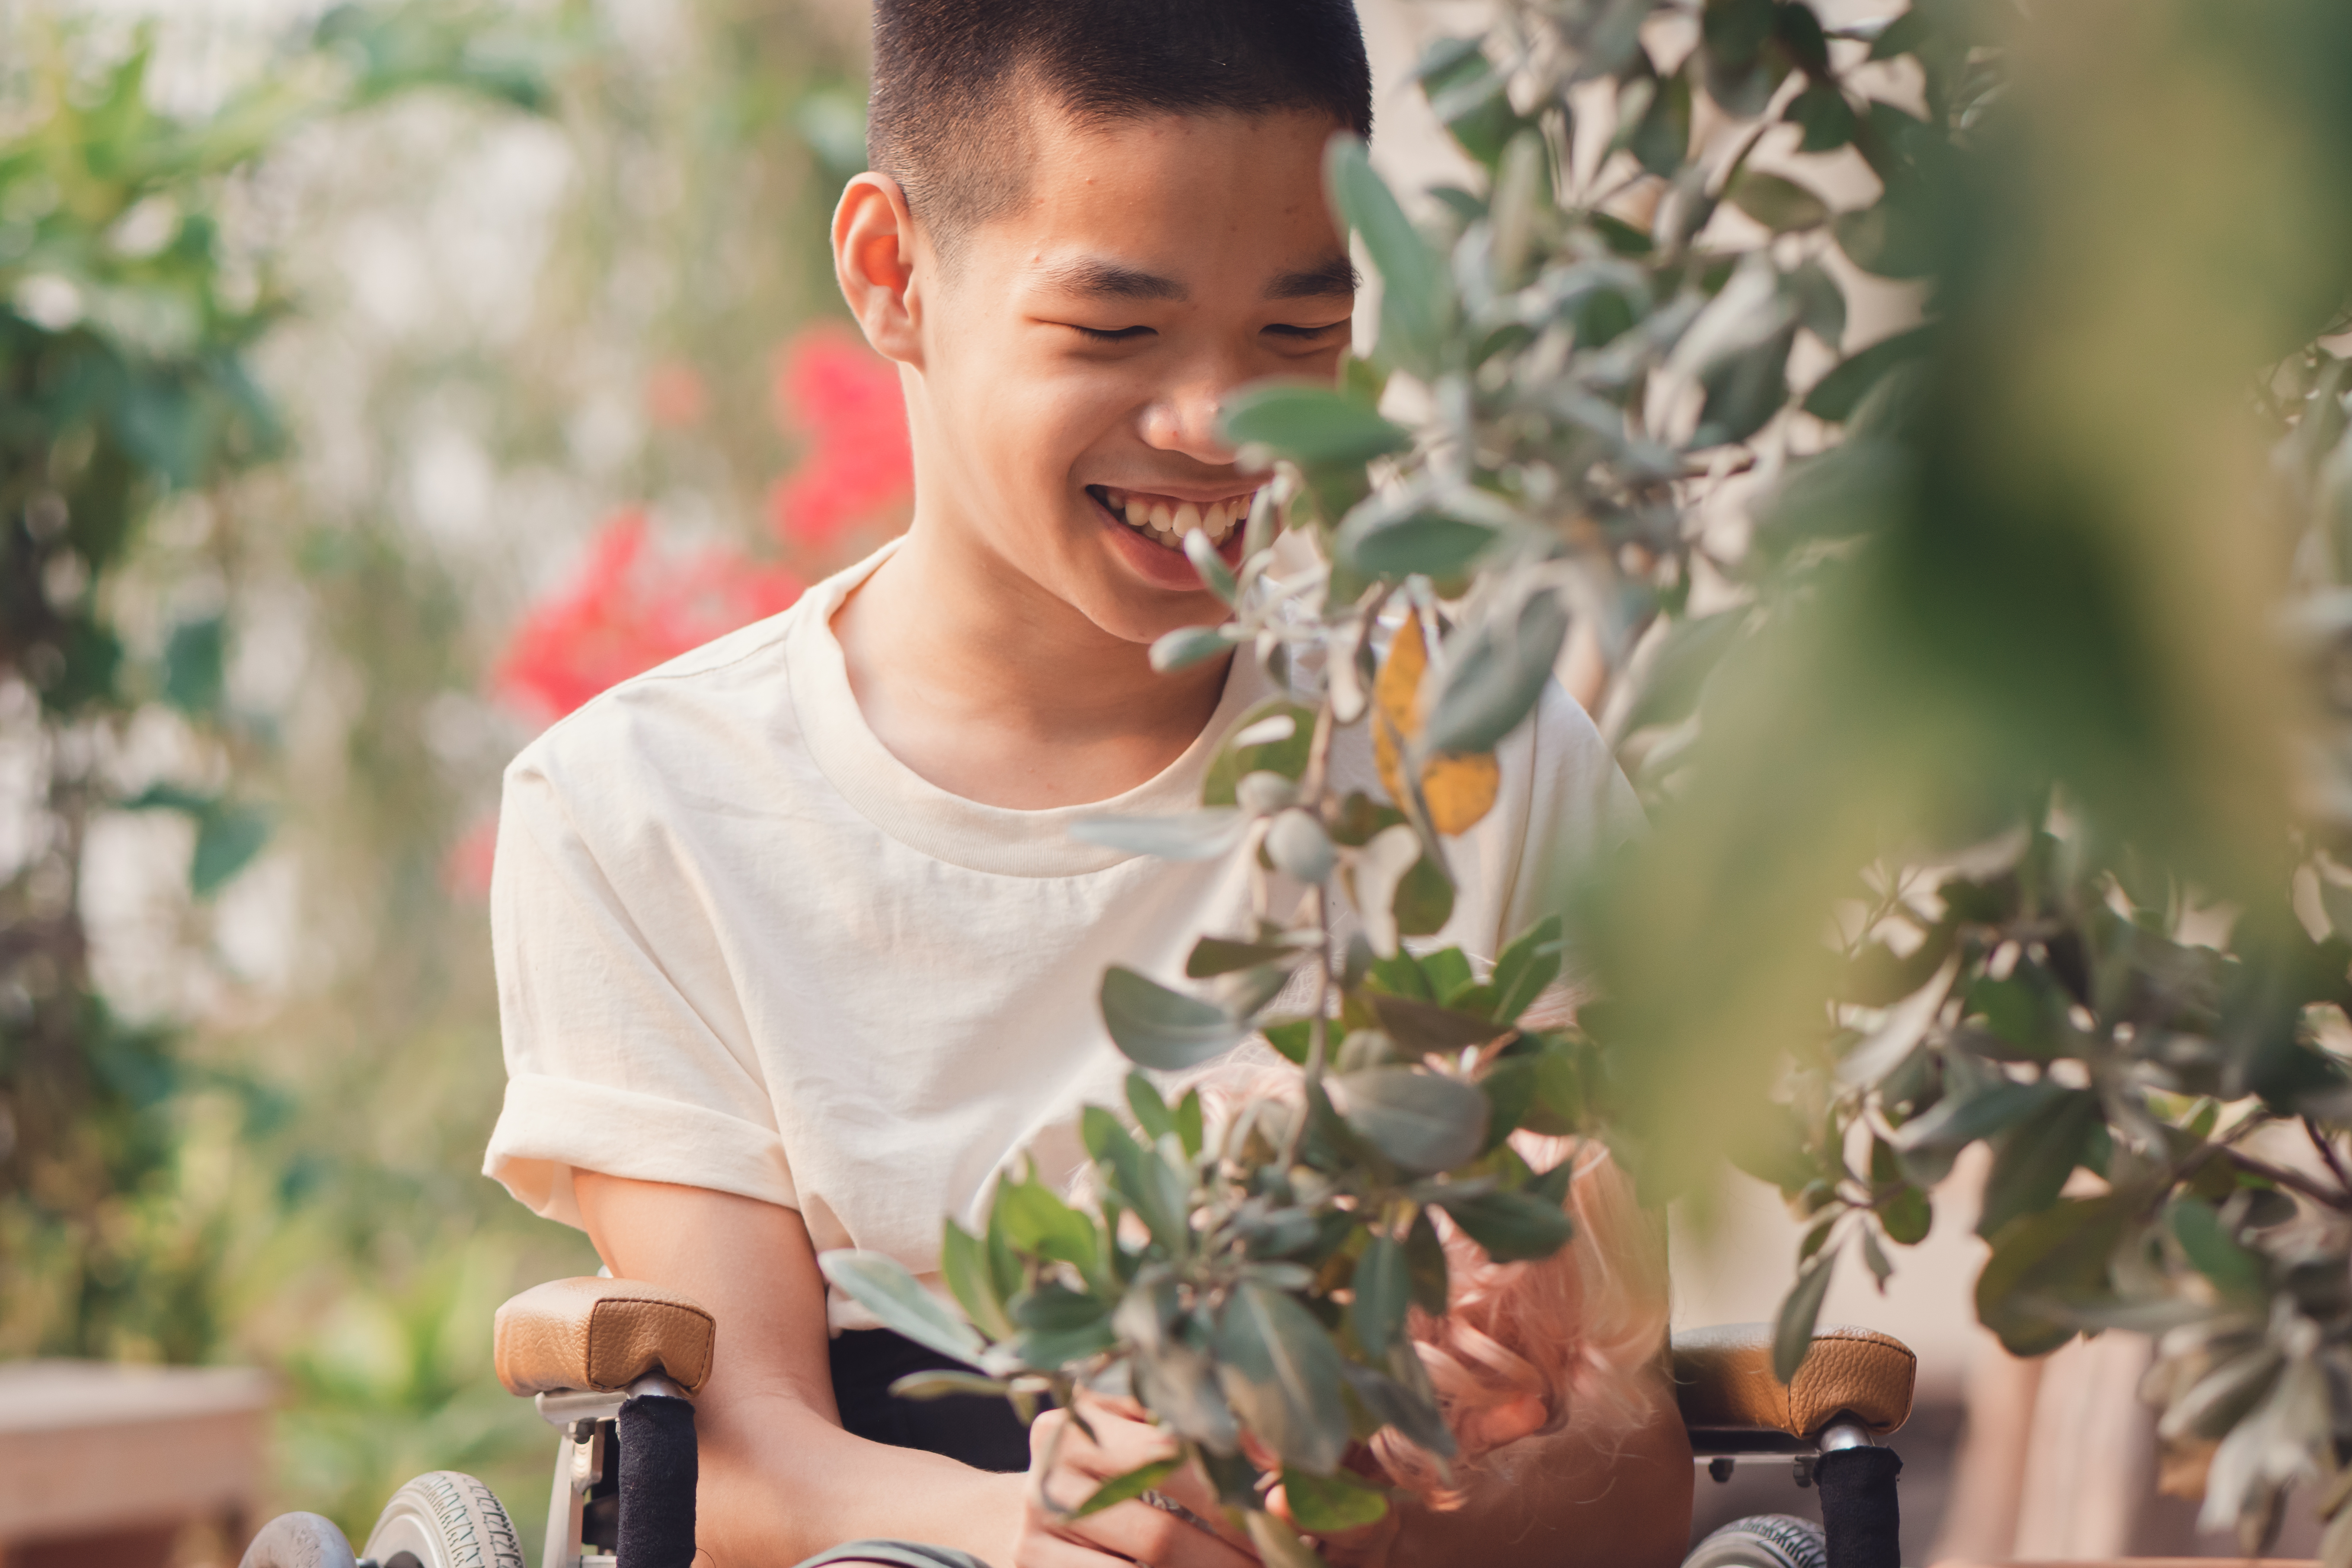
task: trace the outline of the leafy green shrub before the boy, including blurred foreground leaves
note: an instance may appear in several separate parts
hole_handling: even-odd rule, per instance
[[[1738,1150],[1811,1220],[1783,1378],[1837,1260],[1884,1279],[1957,1152],[1990,1140],[1983,1319],[2020,1354],[2159,1331],[2161,1432],[2211,1453],[2206,1521],[2258,1544],[2303,1483],[2333,1519],[2328,1561],[2352,1561],[2352,947],[2333,933],[2352,914],[2352,447],[2343,362],[2298,348],[2343,327],[2347,61],[2352,26],[2326,7],[2251,21],[2197,0],[2065,19],[1919,0],[1846,28],[1802,0],[1559,0],[1437,45],[1423,89],[1477,188],[1435,190],[1414,223],[1338,146],[1334,195],[1381,275],[1376,357],[1228,416],[1287,463],[1319,567],[1275,583],[1254,517],[1240,574],[1195,557],[1235,618],[1157,651],[1256,646],[1291,701],[1228,741],[1211,788],[1230,797],[1122,839],[1211,853],[1247,835],[1327,896],[1204,943],[1195,973],[1230,971],[1207,997],[1117,971],[1103,992],[1143,1065],[1249,1030],[1291,1046],[1305,1119],[1265,1114],[1308,1131],[1249,1145],[1244,1121],[1218,1159],[1162,1135],[1141,1091],[1143,1143],[1089,1119],[1101,1215],[1056,1241],[1068,1211],[1023,1182],[988,1237],[948,1237],[985,1347],[870,1262],[835,1281],[901,1326],[924,1314],[934,1345],[1014,1389],[1131,1361],[1249,1507],[1225,1406],[1204,1420],[1143,1368],[1214,1361],[1167,1382],[1225,1392],[1312,1474],[1383,1420],[1425,1434],[1423,1403],[1301,1413],[1223,1321],[1247,1281],[1287,1300],[1298,1359],[1409,1387],[1367,1361],[1338,1291],[1402,1241],[1409,1204],[1498,1173],[1381,1185],[1392,1152],[1345,1093],[1348,1114],[1324,1110],[1327,1074],[1381,1060],[1428,1098],[1423,1124],[1491,1128],[1510,1117],[1479,1067],[1531,1053],[1581,1091],[1538,1114],[1611,1140],[1651,1197]],[[2157,134],[2133,108],[2150,99],[2176,108]],[[2253,240],[2230,216],[2246,193],[2298,219]],[[1919,324],[1849,353],[1863,275],[1882,315],[1910,287]],[[1390,378],[1414,395],[1383,404]],[[2267,473],[2249,461],[2265,440]],[[1383,1006],[1404,992],[1376,973],[1442,922],[1444,832],[1477,816],[1479,757],[1578,623],[1653,832],[1555,889],[1597,997],[1576,1027],[1463,1065],[1435,1046],[1475,1044],[1468,1025],[1399,1030]],[[1390,816],[1322,788],[1352,722],[1392,755]],[[1324,936],[1331,896],[1359,950]],[[1317,973],[1303,1030],[1261,1011],[1296,964]],[[1449,1013],[1482,1011],[1477,980],[1456,973]],[[1501,1187],[1541,1194],[1515,1175]],[[1334,1197],[1329,1246],[1301,1232],[1301,1272],[1249,1276],[1235,1215],[1275,1194],[1312,1218],[1334,1190],[1378,1197]],[[1176,1194],[1200,1225],[1122,1246],[1122,1208]],[[1056,1340],[1065,1319],[1077,1338]]]

